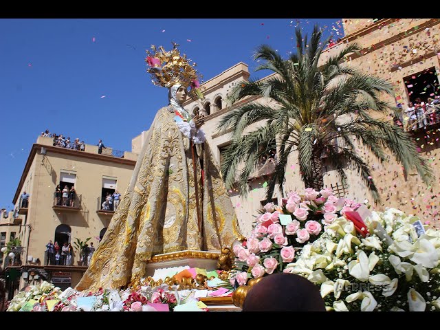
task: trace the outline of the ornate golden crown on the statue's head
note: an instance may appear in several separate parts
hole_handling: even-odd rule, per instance
[[[180,54],[178,46],[177,43],[173,43],[173,50],[166,52],[162,46],[151,45],[153,52],[146,51],[148,56],[145,61],[149,65],[146,72],[151,74],[154,85],[169,88],[181,84],[191,87],[191,91],[197,94],[199,78],[202,76],[195,69],[196,63],[191,64],[191,59],[186,58],[186,54]],[[197,97],[200,96],[197,94]]]

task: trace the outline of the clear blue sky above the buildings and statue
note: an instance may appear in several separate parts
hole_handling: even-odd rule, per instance
[[[340,19],[0,19],[0,207],[12,207],[45,129],[131,151],[131,139],[168,102],[146,74],[152,44],[179,43],[204,80],[239,62],[261,77],[253,73],[256,47],[287,56],[295,26],[310,34],[315,23],[327,27],[325,36],[343,36]]]

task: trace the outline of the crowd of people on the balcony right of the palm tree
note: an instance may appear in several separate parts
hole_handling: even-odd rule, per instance
[[[404,111],[405,130],[426,129],[426,126],[440,121],[440,97],[428,98],[423,102],[416,98],[415,102],[409,102]]]

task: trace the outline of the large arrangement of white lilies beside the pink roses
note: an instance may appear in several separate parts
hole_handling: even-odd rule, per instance
[[[327,310],[440,310],[440,232],[395,208],[365,225],[363,237],[338,217],[283,271],[319,285]]]

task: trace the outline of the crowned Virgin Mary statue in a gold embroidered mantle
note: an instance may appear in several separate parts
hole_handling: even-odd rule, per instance
[[[146,263],[156,254],[219,251],[240,234],[221,171],[200,128],[203,117],[181,106],[189,85],[193,95],[200,95],[194,88],[195,69],[176,45],[171,52],[160,50],[147,58],[154,65],[148,72],[157,85],[168,87],[169,104],[155,115],[129,187],[78,290],[122,287],[145,277]],[[181,62],[170,61],[176,56]]]

